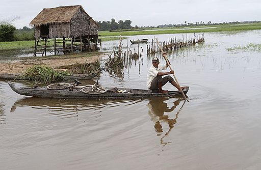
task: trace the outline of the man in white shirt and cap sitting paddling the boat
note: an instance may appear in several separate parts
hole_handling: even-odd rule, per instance
[[[164,52],[163,55],[166,55]],[[172,86],[179,90],[178,84],[174,81],[174,79],[169,76],[169,74],[174,74],[174,71],[171,70],[169,72],[162,72],[162,70],[166,70],[168,68],[168,64],[160,64],[160,60],[158,58],[152,59],[152,66],[149,68],[147,74],[147,88],[152,90],[152,92],[158,91],[159,93],[168,93],[167,90],[162,90],[162,87],[167,83],[170,82]],[[162,77],[167,75],[165,77]],[[185,87],[181,87],[184,89]]]

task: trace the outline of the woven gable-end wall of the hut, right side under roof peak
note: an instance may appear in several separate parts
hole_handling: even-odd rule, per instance
[[[82,8],[73,15],[70,22],[71,36],[95,36],[98,37],[98,25],[88,16]]]

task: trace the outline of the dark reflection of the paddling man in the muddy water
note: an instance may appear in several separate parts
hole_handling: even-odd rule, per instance
[[[147,106],[149,108],[148,114],[151,117],[150,120],[154,122],[154,128],[155,128],[157,135],[161,136],[163,134],[163,132],[164,132],[163,123],[166,123],[168,126],[168,130],[161,137],[161,144],[163,144],[164,146],[171,143],[171,142],[164,142],[163,139],[164,139],[164,137],[168,136],[171,129],[174,127],[174,124],[177,123],[178,114],[186,102],[186,100],[184,100],[181,107],[177,110],[177,112],[175,114],[175,118],[170,119],[169,115],[167,115],[166,113],[171,112],[171,115],[172,115],[174,109],[177,108],[177,106],[180,104],[180,101],[182,101],[182,99],[176,99],[173,102],[173,106],[171,106],[170,108],[168,107],[168,104],[165,102],[167,100],[169,100],[169,98],[150,99],[149,103],[147,104]]]

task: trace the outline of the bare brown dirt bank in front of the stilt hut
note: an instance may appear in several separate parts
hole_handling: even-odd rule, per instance
[[[80,55],[80,56],[79,56]],[[83,55],[83,56],[82,56]],[[70,66],[74,64],[93,63],[100,60],[104,53],[95,54],[72,54],[72,55],[61,55],[61,56],[48,56],[48,57],[37,57],[24,59],[12,63],[0,63],[0,74],[4,73],[22,73],[27,68],[34,65],[46,65],[52,68],[58,68],[61,66]]]

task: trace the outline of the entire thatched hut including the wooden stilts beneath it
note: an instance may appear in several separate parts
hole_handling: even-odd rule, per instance
[[[98,24],[81,5],[44,8],[30,25],[35,26],[35,56],[39,53],[46,55],[46,51],[57,54],[60,51],[90,50],[91,47],[98,48],[100,42]]]

